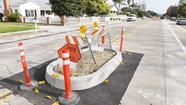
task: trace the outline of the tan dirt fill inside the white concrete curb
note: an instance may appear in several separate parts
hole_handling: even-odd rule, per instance
[[[115,52],[110,50],[104,50],[103,52],[93,52],[96,64],[94,63],[90,52],[83,53],[81,59],[77,62],[75,70],[71,70],[71,76],[83,76],[96,72],[104,63],[111,59]],[[57,65],[54,67],[54,71],[62,74],[62,67]]]

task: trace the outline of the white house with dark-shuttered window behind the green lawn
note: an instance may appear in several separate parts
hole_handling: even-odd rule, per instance
[[[1,0],[0,12],[9,10],[12,13],[20,13],[27,21],[32,21],[34,18],[54,16],[52,13],[51,5],[46,0]],[[5,6],[8,5],[9,8]]]

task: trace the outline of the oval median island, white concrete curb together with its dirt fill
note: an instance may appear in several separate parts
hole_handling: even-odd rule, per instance
[[[76,73],[72,73],[72,75],[74,75],[71,77],[72,90],[84,90],[99,85],[122,62],[120,52],[116,52],[114,50],[105,50],[102,53],[105,53],[107,55],[110,54],[110,56],[108,56],[106,59],[102,59],[103,57],[100,57],[101,53],[97,53],[97,55],[95,54],[95,59],[96,61],[102,61],[101,63],[94,64],[91,61],[86,62],[87,65],[81,65],[82,67],[76,71],[80,72],[78,73],[80,74],[80,76],[75,75]],[[50,85],[59,89],[64,89],[65,86],[63,74],[54,70],[54,67],[57,66],[58,63],[58,60],[56,60],[47,66],[45,78]],[[77,65],[79,64],[77,63]],[[54,74],[59,75],[59,77],[55,78],[53,76]]]

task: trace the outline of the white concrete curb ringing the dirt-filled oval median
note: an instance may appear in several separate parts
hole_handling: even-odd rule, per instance
[[[118,67],[122,61],[122,56],[120,52],[116,52],[116,55],[107,61],[102,67],[99,68],[96,72],[79,77],[71,77],[71,87],[72,90],[84,90],[92,88],[96,85],[102,83],[109,75]],[[53,67],[57,65],[58,61],[53,61],[46,68],[45,79],[46,81],[59,89],[64,89],[64,77],[59,75],[57,78],[54,78],[52,75],[56,74],[53,71]]]

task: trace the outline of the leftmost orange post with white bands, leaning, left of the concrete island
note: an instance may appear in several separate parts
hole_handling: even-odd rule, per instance
[[[23,71],[24,71],[24,77],[25,77],[25,82],[26,82],[25,84],[26,84],[26,86],[30,86],[31,85],[31,80],[30,80],[30,74],[28,72],[26,57],[25,57],[25,54],[24,54],[23,43],[19,42],[18,46],[19,46],[19,53],[20,53],[20,56],[21,56],[21,63],[22,63],[22,66],[23,66]]]

